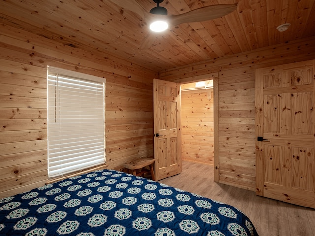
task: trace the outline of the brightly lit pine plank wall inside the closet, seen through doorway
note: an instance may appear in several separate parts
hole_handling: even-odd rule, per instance
[[[213,89],[182,91],[181,116],[182,160],[213,165]]]

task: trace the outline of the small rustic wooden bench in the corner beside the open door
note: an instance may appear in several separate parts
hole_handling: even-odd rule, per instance
[[[153,163],[154,158],[139,158],[130,162],[126,162],[124,164],[124,168],[126,169],[126,172],[129,173],[132,171],[132,174],[134,176],[142,176],[144,177],[144,174],[151,172],[151,178],[152,180],[155,180],[154,171],[153,171]],[[146,169],[148,167],[149,169]]]

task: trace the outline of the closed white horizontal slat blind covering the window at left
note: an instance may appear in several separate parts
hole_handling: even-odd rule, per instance
[[[54,67],[47,77],[48,176],[104,164],[105,79]]]

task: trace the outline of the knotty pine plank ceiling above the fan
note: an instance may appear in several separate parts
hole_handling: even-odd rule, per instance
[[[0,23],[156,72],[315,35],[315,0],[164,0],[160,6],[177,15],[235,3],[224,17],[153,35],[144,49],[153,0],[2,0]],[[284,23],[290,28],[279,32]]]

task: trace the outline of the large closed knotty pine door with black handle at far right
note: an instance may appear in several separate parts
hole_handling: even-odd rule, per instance
[[[257,195],[315,208],[314,62],[256,70]],[[262,137],[262,138],[261,138]]]

